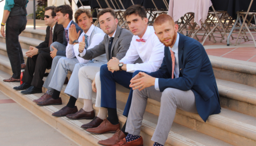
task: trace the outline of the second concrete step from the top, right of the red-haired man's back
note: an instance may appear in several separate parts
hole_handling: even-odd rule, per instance
[[[256,88],[216,79],[222,107],[256,117]]]

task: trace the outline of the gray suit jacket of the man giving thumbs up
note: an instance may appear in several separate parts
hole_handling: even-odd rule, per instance
[[[125,56],[127,50],[129,49],[132,36],[133,35],[129,30],[117,26],[111,47],[111,58],[116,57],[118,60],[121,60]],[[93,48],[86,50],[86,53],[82,58],[84,58],[85,60],[92,60],[95,57],[106,53],[107,60],[109,61],[109,43],[110,39],[108,37],[108,34],[106,34],[104,36],[104,40],[102,40],[102,42],[99,43],[97,46],[94,46]]]

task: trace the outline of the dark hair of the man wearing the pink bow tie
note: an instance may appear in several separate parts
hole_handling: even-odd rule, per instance
[[[126,19],[126,17],[130,16],[131,14],[138,15],[139,17],[141,17],[141,19],[147,18],[147,13],[145,8],[139,4],[128,7],[128,9],[126,9],[124,13],[124,18]]]

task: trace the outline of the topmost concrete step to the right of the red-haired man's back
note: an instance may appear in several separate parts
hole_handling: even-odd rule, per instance
[[[217,79],[256,87],[256,63],[211,55],[209,58]]]

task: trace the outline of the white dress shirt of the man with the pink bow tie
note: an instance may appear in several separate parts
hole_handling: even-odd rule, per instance
[[[155,72],[161,66],[164,58],[164,45],[155,35],[155,30],[152,26],[148,26],[145,34],[141,39],[146,42],[138,42],[138,36],[132,36],[131,45],[125,54],[125,57],[120,60],[126,65],[127,72],[135,72],[136,70],[145,71],[147,73]],[[141,58],[143,63],[133,64],[138,58]]]

